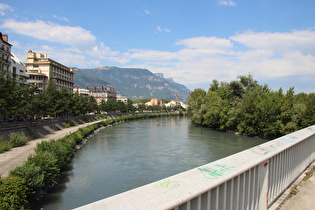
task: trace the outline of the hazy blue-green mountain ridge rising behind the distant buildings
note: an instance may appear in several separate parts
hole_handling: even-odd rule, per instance
[[[99,81],[106,81],[118,89],[123,96],[131,99],[164,98],[174,100],[177,94],[180,101],[187,101],[190,91],[184,85],[178,84],[172,79],[156,76],[147,69],[102,66],[95,69],[79,69],[78,71],[83,73],[79,73],[79,78],[81,75],[89,75]],[[87,78],[90,78],[89,76]],[[83,81],[82,78],[80,80]],[[77,85],[76,72],[74,82]],[[89,86],[97,86],[89,79],[86,79],[85,82],[89,82],[91,84]]]

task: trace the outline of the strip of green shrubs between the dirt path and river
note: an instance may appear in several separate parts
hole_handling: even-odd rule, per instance
[[[82,143],[97,128],[121,121],[181,114],[122,115],[80,128],[61,139],[37,144],[34,155],[30,155],[20,166],[11,170],[8,177],[0,177],[0,209],[29,208],[32,202],[58,182],[59,172],[72,158],[76,145]]]

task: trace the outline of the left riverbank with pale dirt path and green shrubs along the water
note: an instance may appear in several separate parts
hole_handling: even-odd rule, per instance
[[[83,140],[99,127],[125,120],[178,114],[124,115],[62,129],[0,154],[0,208],[26,208],[58,182],[61,168],[72,158]],[[74,132],[74,133],[72,133]],[[77,145],[81,146],[77,146]],[[26,161],[25,161],[26,160]]]

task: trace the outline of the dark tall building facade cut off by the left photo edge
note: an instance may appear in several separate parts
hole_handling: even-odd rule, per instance
[[[11,71],[11,47],[12,45],[8,42],[8,35],[0,32],[0,72],[10,73]]]

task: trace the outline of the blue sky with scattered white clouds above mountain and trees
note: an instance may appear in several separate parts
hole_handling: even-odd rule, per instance
[[[208,90],[253,75],[315,92],[314,0],[0,0],[0,32],[69,67],[146,68]]]

